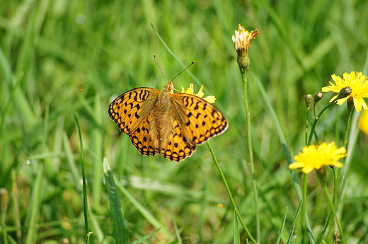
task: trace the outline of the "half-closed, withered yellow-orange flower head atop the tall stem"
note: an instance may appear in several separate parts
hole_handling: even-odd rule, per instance
[[[249,69],[251,61],[249,60],[248,49],[251,47],[251,41],[256,35],[258,35],[258,33],[258,29],[249,32],[239,24],[238,30],[235,30],[235,35],[232,36],[241,73],[244,73]]]

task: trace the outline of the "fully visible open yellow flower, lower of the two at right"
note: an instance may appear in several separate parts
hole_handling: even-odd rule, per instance
[[[319,170],[323,166],[334,165],[342,168],[343,163],[339,163],[340,158],[347,156],[345,147],[337,148],[335,142],[327,144],[323,142],[318,145],[304,146],[301,153],[294,156],[294,162],[289,165],[290,170],[302,168],[301,170],[308,174],[311,170]]]

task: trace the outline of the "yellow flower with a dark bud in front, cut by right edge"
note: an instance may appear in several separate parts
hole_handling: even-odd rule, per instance
[[[330,86],[325,86],[322,88],[323,92],[332,91],[334,93],[340,93],[341,89],[345,87],[351,88],[351,94],[347,95],[345,98],[340,98],[337,103],[338,105],[342,105],[347,99],[351,99],[354,103],[355,110],[357,112],[364,110],[368,110],[367,104],[365,103],[363,98],[368,98],[368,81],[367,77],[362,74],[362,72],[352,71],[350,74],[344,73],[343,79],[340,76],[332,76],[335,84],[330,82]],[[335,100],[338,95],[335,95],[331,98],[330,102]]]

